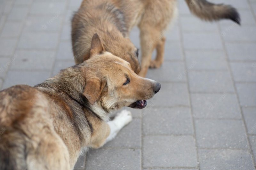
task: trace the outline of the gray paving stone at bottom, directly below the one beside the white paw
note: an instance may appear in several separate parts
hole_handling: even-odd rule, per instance
[[[196,147],[192,136],[145,136],[143,167],[196,167]]]

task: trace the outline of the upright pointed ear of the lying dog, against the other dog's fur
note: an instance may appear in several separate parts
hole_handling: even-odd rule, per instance
[[[100,54],[103,51],[105,51],[103,44],[100,40],[100,36],[96,33],[92,37],[92,44],[91,44],[91,51],[90,51],[90,57]]]

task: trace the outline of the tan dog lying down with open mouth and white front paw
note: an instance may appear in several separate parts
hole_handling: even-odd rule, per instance
[[[104,51],[98,35],[90,56],[35,87],[0,92],[0,170],[73,169],[82,150],[101,147],[132,120],[123,111],[108,121],[109,112],[144,108],[160,89]]]

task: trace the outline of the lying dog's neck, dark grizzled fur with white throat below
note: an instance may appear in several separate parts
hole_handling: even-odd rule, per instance
[[[82,71],[79,68],[80,65],[75,65],[67,69],[61,70],[56,76],[44,81],[35,87],[40,91],[45,93],[56,95],[56,93],[62,92],[66,93],[69,97],[73,98],[77,103],[90,109],[94,114],[96,114],[100,119],[108,121],[108,112],[103,109],[99,101],[95,104],[90,104],[90,102],[84,97],[84,86],[85,78],[82,75]]]

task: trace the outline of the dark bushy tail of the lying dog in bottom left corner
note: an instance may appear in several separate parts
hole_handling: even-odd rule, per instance
[[[23,135],[12,128],[0,129],[0,170],[26,170]]]

